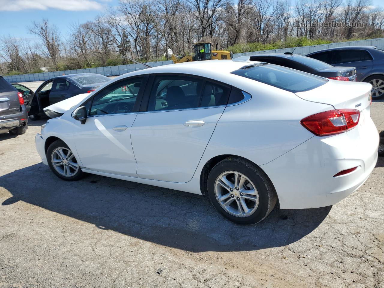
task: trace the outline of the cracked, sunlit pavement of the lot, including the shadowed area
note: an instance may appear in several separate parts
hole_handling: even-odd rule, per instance
[[[371,107],[384,130],[384,102]],[[0,287],[384,288],[383,158],[333,207],[241,226],[204,196],[58,179],[35,151],[44,122],[0,134]]]

